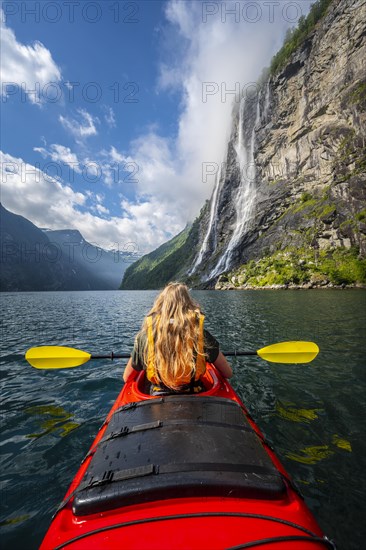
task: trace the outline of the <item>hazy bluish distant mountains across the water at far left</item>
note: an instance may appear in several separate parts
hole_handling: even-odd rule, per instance
[[[0,227],[1,291],[115,290],[131,262],[130,254],[91,245],[79,231],[42,231],[2,205]]]

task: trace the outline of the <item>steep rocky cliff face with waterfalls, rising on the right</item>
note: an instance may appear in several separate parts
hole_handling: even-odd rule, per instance
[[[366,1],[333,0],[284,66],[234,106],[213,195],[169,278],[216,288],[363,280],[365,144]]]

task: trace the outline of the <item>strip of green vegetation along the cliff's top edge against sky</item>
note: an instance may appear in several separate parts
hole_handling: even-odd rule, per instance
[[[282,69],[290,56],[306,40],[316,23],[324,17],[328,7],[333,0],[317,0],[310,8],[310,12],[301,16],[296,29],[289,29],[285,38],[285,43],[279,52],[272,58],[270,73],[275,74]]]

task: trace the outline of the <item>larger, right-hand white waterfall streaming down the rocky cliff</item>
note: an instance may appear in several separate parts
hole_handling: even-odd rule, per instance
[[[252,208],[255,200],[255,133],[260,122],[260,94],[258,94],[256,104],[256,115],[253,129],[250,135],[249,143],[245,143],[244,135],[244,112],[246,105],[246,98],[243,98],[240,102],[239,109],[239,122],[238,122],[238,137],[235,145],[235,152],[237,155],[237,162],[240,168],[240,183],[238,186],[237,194],[234,200],[236,209],[236,224],[234,231],[231,235],[227,249],[221,256],[220,261],[211,271],[209,278],[213,278],[223,271],[227,271],[230,268],[233,252],[240,244],[240,241],[245,233]]]

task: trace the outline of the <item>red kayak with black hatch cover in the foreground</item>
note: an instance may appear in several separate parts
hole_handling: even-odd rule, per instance
[[[334,549],[230,384],[124,385],[41,550]]]

